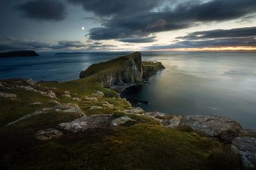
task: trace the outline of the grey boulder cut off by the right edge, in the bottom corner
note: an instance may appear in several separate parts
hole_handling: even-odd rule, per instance
[[[245,167],[256,168],[256,137],[237,137],[231,149],[241,155]]]

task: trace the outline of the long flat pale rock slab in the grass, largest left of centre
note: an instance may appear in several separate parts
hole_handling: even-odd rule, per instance
[[[58,128],[68,132],[78,132],[92,128],[106,128],[113,120],[112,115],[85,115],[68,123],[60,123]]]

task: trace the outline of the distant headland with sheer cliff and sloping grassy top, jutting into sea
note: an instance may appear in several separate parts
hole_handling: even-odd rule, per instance
[[[142,62],[140,52],[118,57],[114,60],[92,64],[80,72],[80,78],[96,76],[103,86],[122,91],[143,84],[143,81],[163,69],[160,62]]]

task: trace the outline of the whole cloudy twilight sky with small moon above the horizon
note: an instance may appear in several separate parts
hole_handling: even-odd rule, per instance
[[[256,0],[1,0],[0,51],[256,50]]]

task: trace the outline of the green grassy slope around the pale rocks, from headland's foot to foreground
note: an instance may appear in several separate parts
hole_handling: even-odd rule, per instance
[[[114,113],[129,108],[117,93],[105,89],[87,77],[64,83],[40,83],[46,90],[52,89],[60,103],[78,103],[85,114]],[[92,103],[71,101],[61,97],[63,90],[73,96],[90,96],[100,90],[107,97],[98,98],[93,105],[109,101],[114,108],[102,111],[87,111]],[[6,90],[5,90],[6,91]],[[52,107],[51,99],[31,91],[8,90],[17,94],[21,101],[0,98],[0,169],[239,169],[240,159],[230,153],[229,146],[197,135],[189,130],[162,128],[151,118],[129,115],[137,120],[135,125],[119,128],[87,130],[63,135],[46,142],[37,141],[38,130],[54,128],[62,122],[78,118],[74,113],[45,113],[6,127],[9,123],[38,108]],[[41,106],[29,103],[40,101]]]

